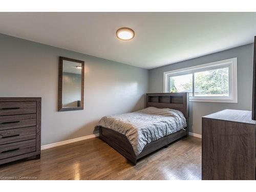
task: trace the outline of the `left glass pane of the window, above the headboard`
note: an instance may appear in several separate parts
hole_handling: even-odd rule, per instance
[[[192,93],[193,91],[192,80],[193,80],[192,74],[169,77],[168,90],[170,93],[177,93],[177,92]]]

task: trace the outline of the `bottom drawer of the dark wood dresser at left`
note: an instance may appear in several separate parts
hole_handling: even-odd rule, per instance
[[[16,143],[0,145],[0,159],[22,155],[36,151],[36,140],[20,141]]]

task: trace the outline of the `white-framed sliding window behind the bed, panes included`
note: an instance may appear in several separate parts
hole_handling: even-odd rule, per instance
[[[189,101],[237,103],[237,58],[164,72],[165,92],[188,92]]]

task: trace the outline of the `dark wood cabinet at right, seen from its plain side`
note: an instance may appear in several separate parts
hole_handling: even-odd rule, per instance
[[[202,179],[255,179],[255,121],[251,111],[202,117]]]

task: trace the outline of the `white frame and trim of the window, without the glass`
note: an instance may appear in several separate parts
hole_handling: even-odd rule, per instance
[[[208,71],[212,69],[220,69],[228,67],[228,97],[200,97],[194,95],[194,73],[201,71]],[[163,90],[165,93],[168,92],[168,77],[179,76],[193,74],[193,96],[189,97],[189,101],[197,101],[197,102],[226,102],[226,103],[237,103],[238,102],[238,83],[237,83],[237,57],[225,59],[216,62],[210,62],[203,65],[167,71],[163,73]]]

